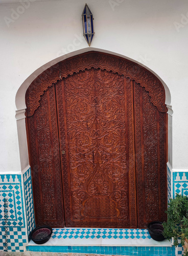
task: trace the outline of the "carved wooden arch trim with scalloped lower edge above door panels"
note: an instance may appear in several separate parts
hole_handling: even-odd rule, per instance
[[[40,105],[40,98],[54,83],[68,75],[86,69],[101,69],[117,73],[135,80],[148,91],[151,102],[160,112],[167,112],[165,89],[159,79],[150,71],[122,57],[101,53],[86,52],[66,60],[42,72],[29,86],[26,92],[27,116],[32,116]]]

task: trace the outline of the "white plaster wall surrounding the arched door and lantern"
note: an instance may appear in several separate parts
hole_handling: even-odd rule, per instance
[[[20,166],[15,119],[15,96],[21,84],[20,90],[25,91],[27,81],[45,63],[88,48],[81,36],[85,0],[26,2],[25,7],[21,3],[0,5],[2,173],[19,172],[28,164],[28,159],[22,160]],[[173,169],[188,170],[187,0],[88,0],[87,4],[95,18],[91,46],[141,62],[167,84],[172,99],[168,97],[167,104],[174,111],[170,161]],[[16,103],[18,110],[25,108],[23,98]]]

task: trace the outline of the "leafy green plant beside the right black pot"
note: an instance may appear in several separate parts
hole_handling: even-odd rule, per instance
[[[163,223],[163,236],[174,239],[174,245],[178,246],[178,240],[184,245],[185,238],[188,239],[188,198],[176,194],[174,199],[170,200],[167,209],[167,222]],[[185,250],[185,256],[188,251]]]

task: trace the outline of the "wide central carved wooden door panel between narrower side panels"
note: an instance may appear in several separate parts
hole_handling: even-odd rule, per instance
[[[69,193],[64,201],[66,226],[136,227],[135,179],[129,186],[129,176],[135,174],[128,143],[133,126],[128,134],[126,125],[127,110],[132,116],[133,109],[125,101],[124,77],[91,69],[64,79],[57,90],[64,92],[58,97],[60,108],[65,101],[60,134],[63,123],[67,131],[61,148],[68,164],[63,169]]]

